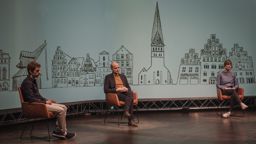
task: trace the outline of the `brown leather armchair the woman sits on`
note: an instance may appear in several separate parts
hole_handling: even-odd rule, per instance
[[[238,88],[238,95],[239,98],[241,100],[244,99],[244,89],[243,88]],[[229,95],[222,95],[221,90],[217,88],[217,97],[219,100],[219,105],[218,105],[218,109],[217,109],[217,115],[220,115],[220,117],[222,118],[222,103],[226,100],[231,100],[231,97]],[[219,106],[221,106],[221,110],[220,110],[220,114],[218,114],[218,110],[219,110]],[[235,111],[236,114],[236,111]],[[231,116],[235,116],[235,114],[232,114]],[[244,110],[243,110],[243,116],[237,116],[237,117],[244,117]]]

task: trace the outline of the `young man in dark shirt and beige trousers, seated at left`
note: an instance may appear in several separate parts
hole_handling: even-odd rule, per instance
[[[52,136],[59,139],[73,138],[76,136],[76,133],[66,132],[66,106],[52,103],[52,101],[42,97],[39,93],[36,78],[40,74],[40,67],[41,65],[34,61],[27,65],[28,75],[21,84],[24,101],[29,103],[44,103],[49,112],[57,114],[56,130],[52,132]]]

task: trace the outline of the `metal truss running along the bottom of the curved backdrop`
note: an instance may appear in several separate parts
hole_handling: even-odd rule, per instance
[[[173,99],[139,99],[136,106],[137,111],[160,111],[160,110],[188,110],[188,109],[217,109],[221,104],[222,108],[229,108],[229,101],[222,101],[216,98],[173,98]],[[249,107],[255,107],[256,96],[244,97],[243,103]],[[62,103],[67,106],[67,116],[84,115],[86,113],[106,113],[108,107],[105,100],[80,101]],[[239,107],[240,105],[238,105]],[[122,108],[111,107],[109,112],[118,112]],[[0,126],[24,123],[27,119],[22,117],[21,108],[11,111],[0,112]]]

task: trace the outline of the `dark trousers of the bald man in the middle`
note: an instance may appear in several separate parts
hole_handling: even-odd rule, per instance
[[[117,92],[117,97],[120,101],[125,102],[125,109],[129,110],[129,113],[131,115],[130,119],[133,119],[133,93],[132,91],[127,92]]]

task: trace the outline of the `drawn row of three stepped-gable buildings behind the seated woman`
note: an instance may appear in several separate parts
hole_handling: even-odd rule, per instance
[[[217,75],[224,70],[224,62],[230,60],[232,69],[239,84],[255,83],[252,57],[247,55],[243,47],[234,44],[232,52],[227,57],[219,39],[212,34],[204,49],[201,49],[201,58],[190,49],[181,59],[177,84],[216,84]]]

